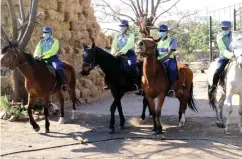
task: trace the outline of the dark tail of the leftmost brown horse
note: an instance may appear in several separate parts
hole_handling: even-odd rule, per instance
[[[81,105],[81,102],[76,98],[76,73],[75,73],[75,69],[73,66],[70,65],[70,74],[71,74],[71,79],[70,79],[70,91],[68,91],[69,93],[69,96],[70,96],[70,100],[73,104],[73,109],[75,110],[74,108],[74,105]]]

